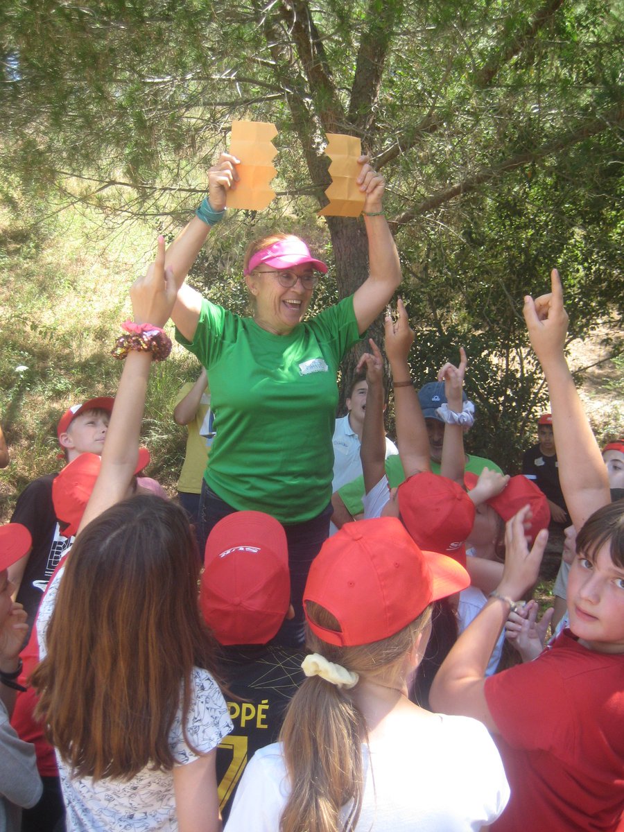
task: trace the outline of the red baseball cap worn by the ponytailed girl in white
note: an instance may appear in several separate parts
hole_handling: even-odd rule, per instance
[[[423,552],[397,518],[345,523],[314,558],[304,590],[310,630],[337,646],[372,644],[402,630],[433,601],[468,587],[452,557]],[[328,630],[310,621],[315,602],[339,622]]]

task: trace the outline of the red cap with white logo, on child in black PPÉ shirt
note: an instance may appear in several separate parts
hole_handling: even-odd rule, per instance
[[[284,527],[262,512],[221,519],[206,542],[200,607],[220,644],[266,644],[290,606]]]

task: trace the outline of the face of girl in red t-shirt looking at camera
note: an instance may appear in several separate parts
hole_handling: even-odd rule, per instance
[[[612,561],[610,543],[593,561],[577,552],[567,579],[567,612],[582,644],[600,653],[624,653],[624,569]]]

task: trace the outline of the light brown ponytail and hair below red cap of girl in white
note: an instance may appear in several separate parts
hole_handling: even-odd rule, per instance
[[[340,629],[334,616],[319,604],[307,602],[306,612],[319,626]],[[431,607],[427,607],[394,636],[357,647],[328,644],[308,629],[306,646],[360,677],[388,676],[393,666],[402,666],[430,615]],[[290,779],[280,832],[336,832],[339,812],[350,801],[343,830],[354,830],[364,796],[361,745],[367,736],[364,716],[349,691],[319,676],[305,679],[290,701],[280,732]]]

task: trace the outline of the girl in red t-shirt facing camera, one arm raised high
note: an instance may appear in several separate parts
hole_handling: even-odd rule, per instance
[[[537,579],[547,532],[529,551],[523,508],[508,522],[498,589],[438,672],[432,701],[477,716],[493,732],[512,787],[496,832],[622,830],[624,808],[624,503],[607,470],[564,356],[567,314],[552,291],[525,298],[527,329],[548,383],[559,474],[577,553],[567,586],[569,628],[535,661],[484,678],[509,612]]]

